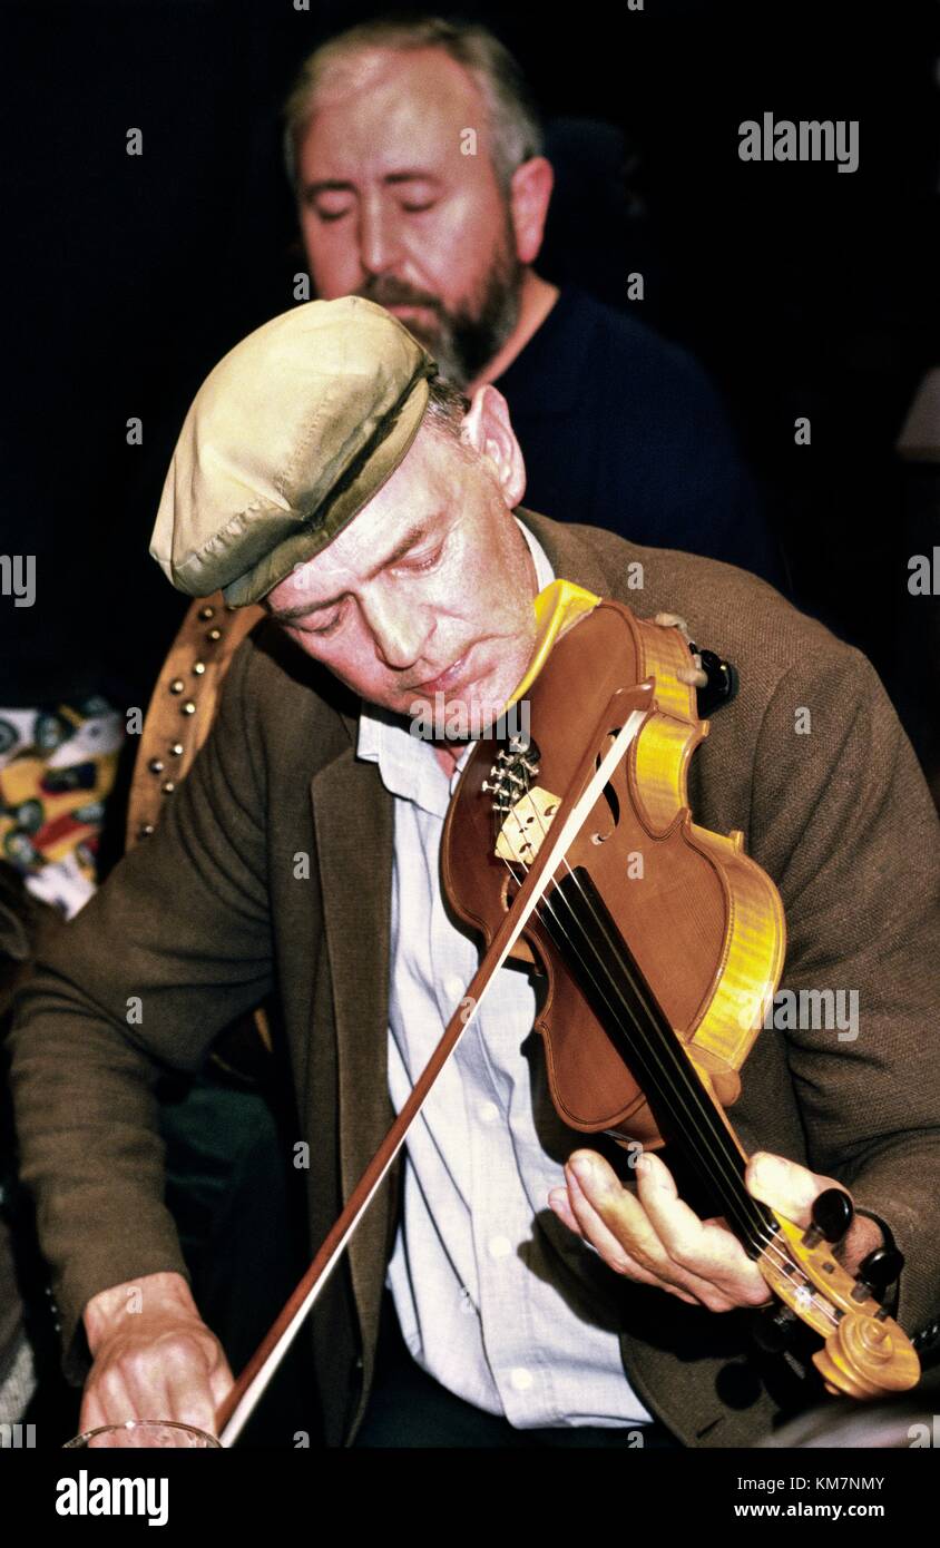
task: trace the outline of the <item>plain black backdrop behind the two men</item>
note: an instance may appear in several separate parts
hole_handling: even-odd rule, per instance
[[[36,605],[0,596],[0,704],[146,704],[186,607],[147,556],[177,430],[215,359],[293,305],[304,268],[280,102],[310,48],[379,9],[0,6],[0,548],[37,556]],[[624,132],[626,153],[585,170],[553,130],[562,186],[539,266],[640,305],[705,362],[801,605],[872,655],[932,768],[940,602],[909,596],[907,560],[940,542],[940,466],[904,466],[894,446],[940,364],[937,5],[460,14],[514,50],[547,116]],[[763,111],[858,119],[858,172],[742,163],[739,124]],[[132,127],[142,156],[125,153]]]

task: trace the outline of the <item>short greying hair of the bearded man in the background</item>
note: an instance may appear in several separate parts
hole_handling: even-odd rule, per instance
[[[486,105],[492,170],[503,192],[523,161],[542,155],[542,124],[525,76],[492,33],[475,22],[448,22],[438,15],[384,17],[331,37],[300,65],[283,110],[283,152],[291,186],[297,183],[297,142],[313,116],[317,91],[338,65],[369,48],[403,54],[440,48],[463,65]]]

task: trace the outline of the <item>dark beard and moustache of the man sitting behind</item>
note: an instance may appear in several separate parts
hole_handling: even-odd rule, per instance
[[[502,350],[519,320],[522,265],[511,246],[503,245],[491,266],[480,299],[448,311],[437,296],[393,279],[376,276],[356,293],[379,307],[427,307],[437,322],[409,322],[418,344],[434,354],[441,376],[455,387],[466,387]]]

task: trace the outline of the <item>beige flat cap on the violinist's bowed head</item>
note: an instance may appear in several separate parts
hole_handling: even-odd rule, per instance
[[[437,365],[358,296],[273,317],[186,415],[150,553],[189,596],[245,607],[333,542],[398,467]]]

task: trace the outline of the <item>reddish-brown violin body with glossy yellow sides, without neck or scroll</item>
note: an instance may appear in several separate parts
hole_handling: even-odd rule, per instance
[[[590,621],[554,644],[548,667],[528,692],[539,749],[534,785],[557,805],[571,789],[584,737],[618,692],[624,684],[655,683],[643,731],[568,851],[568,862],[590,868],[669,1025],[728,1107],[740,1091],[737,1071],[779,983],[785,924],[779,893],[745,854],[743,836],[709,833],[692,820],[688,769],[708,721],[698,720],[695,689],[677,676],[688,664],[675,628],[641,622],[619,602],[601,602]],[[499,754],[496,740],[474,749],[441,844],[451,904],[486,943],[514,893],[513,876],[494,850],[492,802],[483,788],[494,779]],[[542,827],[548,830],[545,803],[528,799],[539,805],[533,811],[523,807],[520,822],[527,833],[534,828],[540,836]],[[525,842],[522,831],[519,841]],[[663,1136],[646,1094],[581,989],[559,971],[539,918],[530,923],[528,946],[548,978],[536,1028],[545,1040],[557,1111],[571,1128],[604,1130],[658,1147]]]

